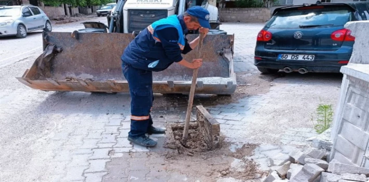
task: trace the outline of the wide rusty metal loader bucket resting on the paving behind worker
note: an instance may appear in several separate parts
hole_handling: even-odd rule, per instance
[[[187,35],[189,41],[198,35]],[[122,72],[121,55],[134,34],[43,32],[44,52],[17,79],[44,91],[129,92]],[[233,70],[234,35],[207,35],[203,42],[203,66],[196,94],[231,95],[237,83]],[[196,49],[184,55],[191,61]],[[154,93],[190,92],[193,70],[172,64],[153,72]]]

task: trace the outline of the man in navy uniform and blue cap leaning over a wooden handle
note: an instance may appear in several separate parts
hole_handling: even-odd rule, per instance
[[[129,141],[153,147],[157,142],[145,134],[165,133],[165,130],[152,126],[152,71],[163,71],[173,62],[187,68],[199,68],[202,59],[187,62],[182,58],[181,54],[187,54],[199,43],[199,37],[187,42],[185,34],[189,30],[199,30],[206,35],[209,29],[209,12],[203,7],[194,6],[182,15],[172,15],[155,21],[124,49],[121,56],[122,69],[131,95]]]

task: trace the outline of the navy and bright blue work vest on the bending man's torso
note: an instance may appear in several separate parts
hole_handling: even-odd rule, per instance
[[[168,68],[173,61],[168,60],[162,46],[156,44],[160,42],[156,31],[167,27],[175,27],[177,29],[179,35],[177,43],[183,50],[185,40],[182,26],[177,16],[172,15],[155,21],[141,31],[124,49],[121,60],[137,69],[163,71]]]

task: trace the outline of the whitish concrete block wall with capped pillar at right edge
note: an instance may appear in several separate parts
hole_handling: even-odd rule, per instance
[[[369,168],[369,21],[345,25],[355,37],[354,51],[347,66],[332,127],[330,159]]]

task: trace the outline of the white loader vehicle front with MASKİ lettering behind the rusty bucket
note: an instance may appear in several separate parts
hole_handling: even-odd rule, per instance
[[[114,17],[114,27],[110,32],[138,33],[154,21],[182,14],[192,6],[206,8],[210,13],[211,32],[219,30],[218,8],[210,5],[207,0],[120,0],[108,18],[110,27],[110,19]]]

